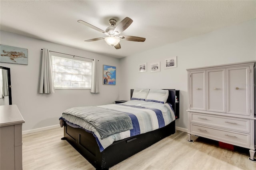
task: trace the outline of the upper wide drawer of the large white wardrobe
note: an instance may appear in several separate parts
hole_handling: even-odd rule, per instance
[[[190,112],[190,122],[250,133],[250,120]]]

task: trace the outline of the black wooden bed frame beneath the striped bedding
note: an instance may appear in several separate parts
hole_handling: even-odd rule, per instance
[[[172,104],[173,110],[175,110],[175,89],[168,90],[169,97],[167,102]],[[131,96],[132,93],[133,89],[131,89]],[[62,140],[67,140],[96,170],[108,170],[110,167],[174,133],[175,121],[152,132],[115,141],[100,152],[93,134],[80,128],[72,128],[65,123],[64,138]]]

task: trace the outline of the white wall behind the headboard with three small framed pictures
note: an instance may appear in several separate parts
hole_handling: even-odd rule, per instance
[[[250,20],[208,34],[167,44],[140,54],[122,58],[120,99],[128,100],[130,88],[175,88],[180,90],[180,119],[176,126],[186,130],[188,68],[256,60],[256,20]],[[164,59],[177,56],[177,68],[164,69]],[[150,73],[150,64],[161,62],[161,71]],[[138,72],[147,62],[148,71]]]

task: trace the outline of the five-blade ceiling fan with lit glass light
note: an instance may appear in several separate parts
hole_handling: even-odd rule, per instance
[[[93,26],[92,24],[89,24],[87,22],[84,22],[83,20],[78,20],[77,22],[84,24],[85,26],[88,26],[96,31],[102,32],[106,34],[106,37],[100,37],[100,38],[93,38],[90,40],[85,40],[85,42],[91,42],[91,41],[97,41],[97,40],[105,40],[106,43],[110,46],[114,46],[116,49],[120,49],[120,40],[128,40],[128,41],[136,41],[136,42],[144,42],[146,38],[137,37],[137,36],[122,36],[120,35],[130,24],[132,24],[133,20],[129,17],[124,18],[118,25],[116,25],[115,19],[110,19],[109,26],[106,28],[106,31]]]

